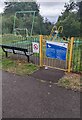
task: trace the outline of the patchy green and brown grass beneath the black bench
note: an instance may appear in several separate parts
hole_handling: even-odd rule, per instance
[[[39,66],[28,63],[25,60],[13,60],[4,58],[0,61],[0,69],[19,75],[30,75],[39,69]]]

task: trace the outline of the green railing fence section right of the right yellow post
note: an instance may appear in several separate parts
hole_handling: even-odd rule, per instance
[[[82,40],[80,38],[74,40],[72,71],[82,72]]]

